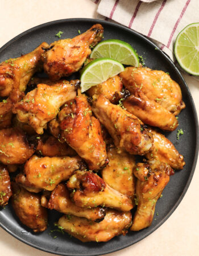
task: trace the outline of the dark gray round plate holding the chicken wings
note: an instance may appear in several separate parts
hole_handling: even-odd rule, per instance
[[[179,129],[183,129],[184,135],[180,136],[179,141],[176,139],[176,131],[166,135],[175,144],[177,150],[184,155],[186,166],[183,171],[176,172],[171,177],[167,187],[164,189],[163,197],[158,200],[155,210],[155,212],[159,213],[159,216],[155,217],[156,220],[152,222],[150,228],[139,232],[128,232],[125,237],[115,237],[106,243],[82,243],[76,238],[69,237],[67,234],[63,235],[57,232],[49,235],[50,230],[55,229],[53,222],[57,221],[59,216],[61,216],[56,211],[49,212],[49,227],[40,234],[33,234],[30,229],[22,225],[15,216],[10,204],[6,206],[6,209],[0,211],[1,226],[11,235],[37,249],[60,255],[89,256],[111,253],[147,237],[159,228],[180,204],[189,187],[197,162],[198,121],[188,86],[173,62],[160,49],[155,49],[154,43],[151,43],[150,40],[129,28],[95,19],[65,19],[45,23],[23,32],[3,46],[0,49],[0,62],[10,57],[18,57],[21,53],[28,53],[43,41],[47,43],[54,42],[58,39],[55,37],[58,31],[64,31],[61,38],[73,38],[78,35],[78,30],[84,32],[94,23],[101,23],[103,25],[105,39],[121,39],[130,43],[138,51],[139,55],[143,55],[146,58],[147,67],[169,72],[172,79],[180,84],[186,109],[179,115]],[[57,236],[57,238],[53,239],[54,236]]]

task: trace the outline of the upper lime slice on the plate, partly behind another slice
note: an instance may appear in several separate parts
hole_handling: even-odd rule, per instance
[[[122,64],[139,66],[139,57],[130,44],[117,39],[105,40],[93,49],[92,59],[110,58]]]

